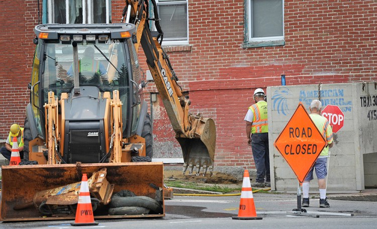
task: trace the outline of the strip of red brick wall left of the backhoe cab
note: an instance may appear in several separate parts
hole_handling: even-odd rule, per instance
[[[0,138],[6,139],[13,123],[24,126],[38,8],[31,0],[1,1],[0,8]]]

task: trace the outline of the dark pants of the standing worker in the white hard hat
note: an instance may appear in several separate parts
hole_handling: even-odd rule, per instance
[[[270,182],[268,133],[252,134],[251,149],[256,168],[256,182]]]

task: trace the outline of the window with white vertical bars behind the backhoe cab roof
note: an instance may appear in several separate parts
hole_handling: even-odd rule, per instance
[[[43,23],[111,23],[111,0],[43,0]]]

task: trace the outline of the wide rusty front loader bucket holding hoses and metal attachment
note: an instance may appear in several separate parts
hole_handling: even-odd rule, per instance
[[[80,181],[84,173],[88,177],[91,203],[92,205],[96,203],[96,207],[93,208],[95,218],[163,217],[165,215],[162,162],[77,163],[3,166],[0,220],[74,219]],[[125,197],[128,195],[119,195],[126,192],[134,193],[138,201],[147,199],[148,204],[152,201],[155,206],[142,207],[145,209],[142,213],[138,213],[140,206],[134,206],[129,202],[119,202],[130,198]],[[114,197],[116,195],[118,202]],[[134,199],[133,201],[135,202]],[[118,206],[115,206],[115,203]],[[119,213],[119,209],[123,213]],[[127,210],[133,213],[127,213]]]

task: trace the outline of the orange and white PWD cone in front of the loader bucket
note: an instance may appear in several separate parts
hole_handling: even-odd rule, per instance
[[[87,184],[86,173],[82,174],[80,195],[76,208],[76,217],[72,226],[98,225],[94,220],[93,209],[91,208],[89,186]]]

